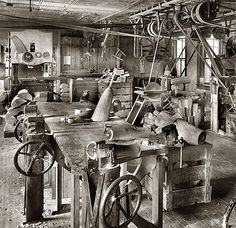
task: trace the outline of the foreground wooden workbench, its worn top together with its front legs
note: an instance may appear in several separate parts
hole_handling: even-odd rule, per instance
[[[38,112],[44,117],[47,130],[52,135],[52,142],[56,144],[57,150],[60,150],[59,153],[62,153],[66,158],[69,166],[71,168],[71,227],[80,227],[80,198],[82,196],[82,204],[86,200],[83,194],[80,196],[80,177],[83,175],[84,170],[86,169],[85,164],[85,146],[91,141],[101,141],[105,140],[104,135],[104,126],[107,123],[113,124],[127,124],[127,122],[115,119],[109,122],[84,122],[76,124],[68,124],[62,122],[61,119],[65,116],[73,115],[75,109],[80,109],[81,104],[78,102],[74,103],[47,103],[47,102],[38,102]],[[120,145],[117,145],[117,148]],[[162,191],[163,191],[163,174],[164,174],[164,160],[161,157],[155,159],[157,156],[162,155],[163,151],[152,148],[140,148],[144,153],[153,154],[154,157],[150,159],[155,161],[156,167],[154,168],[154,197],[153,197],[153,223],[155,225],[159,224],[159,227],[162,227]],[[137,151],[140,151],[137,150]],[[130,152],[130,149],[127,151]],[[57,153],[57,151],[56,151]],[[129,153],[130,154],[130,153]],[[136,157],[137,158],[137,157]],[[132,158],[131,158],[132,159]],[[153,163],[153,162],[151,162]],[[145,172],[147,170],[144,170]],[[60,173],[60,172],[59,172]],[[60,175],[57,174],[57,188],[61,188]],[[158,186],[158,187],[156,187]],[[59,201],[61,201],[60,191],[57,190],[57,195]],[[57,200],[58,202],[58,200]],[[60,204],[60,202],[59,202]],[[150,222],[148,222],[150,224]],[[83,224],[82,224],[83,226]],[[145,227],[147,227],[145,225]]]

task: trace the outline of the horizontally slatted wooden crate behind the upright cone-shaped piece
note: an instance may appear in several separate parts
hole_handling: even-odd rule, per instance
[[[98,93],[101,97],[104,90],[108,87],[109,83],[104,81],[98,82]],[[121,106],[123,109],[123,114],[128,115],[133,104],[133,80],[128,80],[127,82],[113,82],[113,99],[117,98],[121,101]],[[119,115],[119,114],[118,114]],[[124,117],[124,116],[122,116]]]

